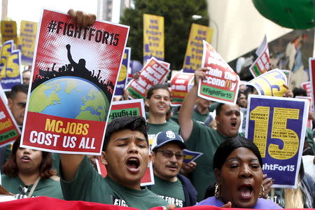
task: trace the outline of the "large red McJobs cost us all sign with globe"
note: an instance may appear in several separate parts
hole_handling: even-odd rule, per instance
[[[43,10],[21,146],[99,155],[129,27]],[[84,50],[83,50],[84,49]]]

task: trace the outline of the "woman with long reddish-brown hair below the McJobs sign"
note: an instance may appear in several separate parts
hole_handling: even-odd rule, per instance
[[[52,158],[48,152],[20,147],[20,137],[3,165],[2,185],[16,198],[48,196],[63,199]]]

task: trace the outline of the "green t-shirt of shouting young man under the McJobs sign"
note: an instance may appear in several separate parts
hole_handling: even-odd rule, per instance
[[[59,174],[62,175],[62,168],[59,169]],[[64,181],[61,176],[61,186],[65,200],[83,200],[137,209],[150,209],[168,204],[148,188],[134,190],[121,186],[108,176],[103,178],[92,168],[87,156],[80,163],[72,181]]]

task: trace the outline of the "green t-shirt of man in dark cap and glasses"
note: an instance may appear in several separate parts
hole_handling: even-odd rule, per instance
[[[151,191],[162,199],[175,204],[176,207],[185,207],[185,195],[181,181],[165,181],[154,175],[154,185],[151,186]]]

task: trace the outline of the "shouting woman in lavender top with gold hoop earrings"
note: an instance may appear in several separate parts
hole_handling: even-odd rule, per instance
[[[262,186],[262,159],[257,146],[244,137],[223,141],[214,154],[215,195],[197,205],[246,209],[282,209],[258,198]]]

